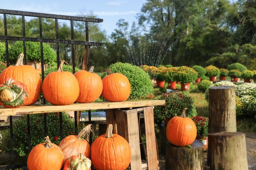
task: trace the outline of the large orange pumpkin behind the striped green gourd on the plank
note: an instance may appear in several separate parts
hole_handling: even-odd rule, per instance
[[[15,66],[9,66],[0,74],[0,84],[3,84],[6,78],[15,79],[17,82],[22,82],[27,87],[28,99],[24,105],[32,105],[37,102],[41,95],[42,80],[35,68],[30,65],[23,65],[23,53],[17,59]]]

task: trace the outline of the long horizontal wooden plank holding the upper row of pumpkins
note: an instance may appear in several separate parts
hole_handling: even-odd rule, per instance
[[[96,103],[74,103],[72,105],[32,105],[20,108],[0,108],[0,116],[15,116],[22,114],[83,111],[116,108],[136,108],[155,105],[164,105],[164,100],[128,100],[125,102],[96,102]]]

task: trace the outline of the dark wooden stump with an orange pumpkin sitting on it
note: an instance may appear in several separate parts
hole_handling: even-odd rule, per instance
[[[195,140],[189,147],[178,147],[166,142],[166,170],[203,170],[203,142]]]

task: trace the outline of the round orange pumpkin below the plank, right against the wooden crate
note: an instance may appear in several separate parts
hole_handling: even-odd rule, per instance
[[[125,170],[131,162],[131,148],[128,142],[112,134],[109,124],[105,135],[99,136],[91,146],[91,160],[96,170]]]

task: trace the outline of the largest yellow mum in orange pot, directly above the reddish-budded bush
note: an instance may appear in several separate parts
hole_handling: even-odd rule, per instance
[[[174,76],[180,82],[181,90],[189,91],[190,82],[194,82],[198,78],[198,73],[191,67],[181,66]]]

